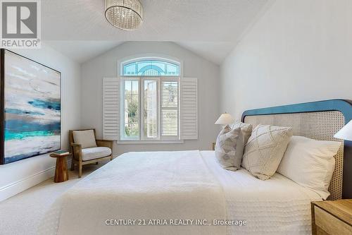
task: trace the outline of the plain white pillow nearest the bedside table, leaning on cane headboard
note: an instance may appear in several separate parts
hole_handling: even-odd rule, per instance
[[[277,172],[310,188],[323,199],[329,196],[329,183],[341,143],[292,136]]]

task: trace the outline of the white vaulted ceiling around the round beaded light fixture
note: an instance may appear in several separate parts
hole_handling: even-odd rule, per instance
[[[269,1],[141,0],[144,23],[123,31],[104,0],[42,0],[42,39],[80,63],[126,41],[170,41],[220,64]]]

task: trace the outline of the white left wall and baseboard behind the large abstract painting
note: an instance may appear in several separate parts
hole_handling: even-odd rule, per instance
[[[61,71],[61,143],[68,149],[68,130],[80,127],[80,64],[44,43],[42,49],[12,51]],[[49,155],[0,165],[0,201],[54,176],[54,167]]]

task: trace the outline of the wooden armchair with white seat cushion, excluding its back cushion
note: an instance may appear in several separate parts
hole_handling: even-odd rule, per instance
[[[80,143],[75,143],[73,138],[74,131],[93,131],[94,139],[96,143],[96,147],[86,147],[82,148]],[[70,147],[72,150],[72,163],[71,163],[71,171],[75,169],[75,164],[78,165],[79,175],[78,177],[82,177],[82,166],[87,164],[98,164],[105,159],[113,159],[113,140],[96,140],[95,129],[83,129],[83,130],[70,130],[69,131],[70,138]],[[94,140],[93,140],[94,142]]]

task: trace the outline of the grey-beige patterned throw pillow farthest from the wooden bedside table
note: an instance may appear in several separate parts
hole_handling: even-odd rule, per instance
[[[220,131],[215,145],[215,156],[222,168],[236,171],[241,167],[244,137],[241,128],[225,126]]]

